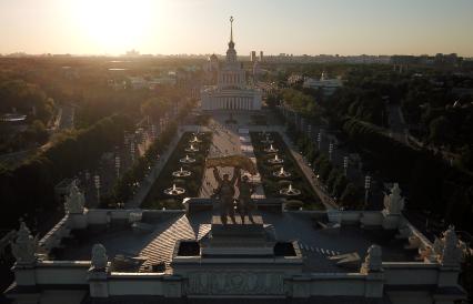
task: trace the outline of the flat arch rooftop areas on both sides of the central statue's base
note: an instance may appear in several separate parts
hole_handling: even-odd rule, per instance
[[[151,272],[157,270],[157,265],[165,265],[165,272],[172,273],[170,262],[175,242],[201,240],[210,231],[212,214],[200,212],[189,217],[183,212],[150,214],[143,213],[139,231],[133,231],[125,221],[115,220],[108,227],[94,225],[73,231],[74,237],[63,240],[62,249],[56,250],[53,257],[57,261],[89,261],[92,245],[101,243],[109,260],[122,255],[125,260],[138,261],[137,268],[132,271]],[[261,212],[261,215],[264,225],[273,226],[279,241],[299,241],[305,272],[352,272],[353,268],[339,266],[329,257],[356,253],[363,261],[372,244],[382,246],[384,262],[415,261],[416,252],[405,250],[405,241],[395,239],[393,232],[382,227],[343,225],[340,229],[321,229],[314,217],[321,220],[322,213]]]

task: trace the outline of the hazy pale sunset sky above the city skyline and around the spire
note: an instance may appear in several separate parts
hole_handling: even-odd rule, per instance
[[[473,0],[0,0],[0,53],[473,57]]]

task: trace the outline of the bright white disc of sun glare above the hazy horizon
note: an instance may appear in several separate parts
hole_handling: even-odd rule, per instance
[[[158,14],[152,0],[81,0],[74,1],[73,14],[81,33],[99,49],[122,53],[138,48],[152,31]]]

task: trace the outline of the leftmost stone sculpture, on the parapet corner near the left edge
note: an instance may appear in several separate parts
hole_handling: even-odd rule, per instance
[[[18,264],[31,264],[36,257],[38,247],[38,237],[31,235],[27,224],[21,221],[20,229],[17,232],[17,239],[11,244],[11,252]]]

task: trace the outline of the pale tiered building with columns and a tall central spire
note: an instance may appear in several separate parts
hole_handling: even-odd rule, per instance
[[[201,108],[204,111],[261,110],[261,91],[246,84],[245,70],[236,60],[234,45],[231,27],[229,49],[225,62],[218,71],[217,85],[205,85],[201,90]]]

